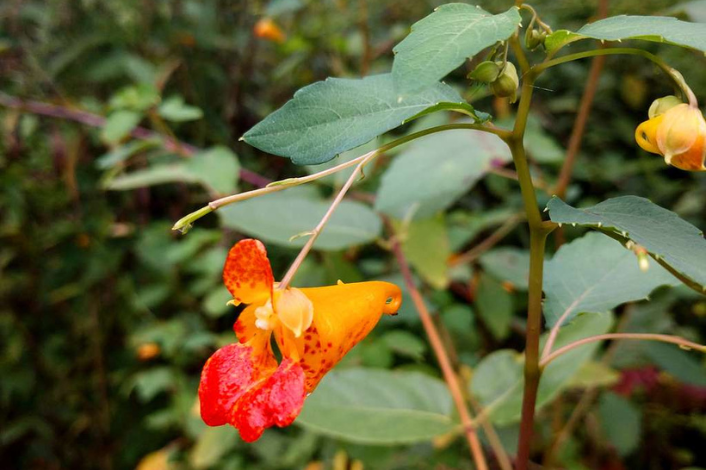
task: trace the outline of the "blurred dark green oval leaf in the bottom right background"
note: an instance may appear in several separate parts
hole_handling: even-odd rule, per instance
[[[637,448],[642,415],[630,400],[612,392],[604,393],[598,402],[598,416],[606,440],[615,447],[618,455],[625,457]]]

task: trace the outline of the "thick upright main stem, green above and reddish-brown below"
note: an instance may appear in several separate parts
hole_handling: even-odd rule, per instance
[[[534,410],[537,403],[539,379],[541,377],[541,369],[539,367],[539,336],[542,329],[544,249],[547,235],[556,227],[556,224],[552,222],[542,221],[542,215],[537,205],[537,195],[535,194],[534,185],[532,184],[532,176],[529,171],[527,155],[523,144],[535,78],[536,74],[531,70],[526,73],[523,78],[522,93],[517,109],[515,127],[512,134],[506,139],[510,151],[512,152],[512,159],[515,163],[530,229],[530,276],[527,332],[525,336],[525,382],[522,397],[520,438],[517,446],[517,470],[527,470],[529,464],[530,447],[534,429]]]

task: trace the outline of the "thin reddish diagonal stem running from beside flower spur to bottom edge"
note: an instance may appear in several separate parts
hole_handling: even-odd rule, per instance
[[[463,399],[463,392],[461,391],[458,377],[451,366],[449,356],[446,353],[446,349],[444,349],[444,344],[441,341],[439,332],[437,331],[434,321],[429,314],[429,310],[427,310],[427,307],[424,304],[424,299],[419,293],[417,287],[414,285],[414,279],[412,278],[412,272],[409,269],[409,263],[407,263],[407,259],[405,258],[404,253],[402,253],[402,247],[400,246],[396,236],[393,236],[392,252],[397,259],[397,264],[400,266],[400,271],[402,272],[407,291],[412,297],[412,302],[414,302],[414,306],[416,307],[419,317],[422,320],[422,324],[424,325],[424,330],[429,337],[429,343],[434,350],[437,361],[439,361],[439,366],[441,367],[444,380],[449,387],[449,392],[451,393],[451,397],[453,398],[456,409],[458,410],[461,425],[463,426],[463,432],[471,449],[471,455],[476,468],[478,470],[488,470],[488,463],[485,460],[485,455],[483,454],[483,448],[480,444],[480,440],[478,439],[478,434],[473,427],[470,412],[468,411],[466,403]]]

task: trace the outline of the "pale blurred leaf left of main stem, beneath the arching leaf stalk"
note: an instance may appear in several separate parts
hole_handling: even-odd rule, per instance
[[[430,218],[467,193],[493,164],[511,159],[505,143],[486,132],[463,129],[422,137],[385,171],[375,209],[400,220]]]

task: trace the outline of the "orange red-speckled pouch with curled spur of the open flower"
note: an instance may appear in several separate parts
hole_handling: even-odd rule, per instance
[[[307,392],[348,351],[377,325],[382,314],[394,314],[402,303],[400,288],[388,282],[372,281],[302,289],[314,304],[314,322],[296,344],[302,355]]]

